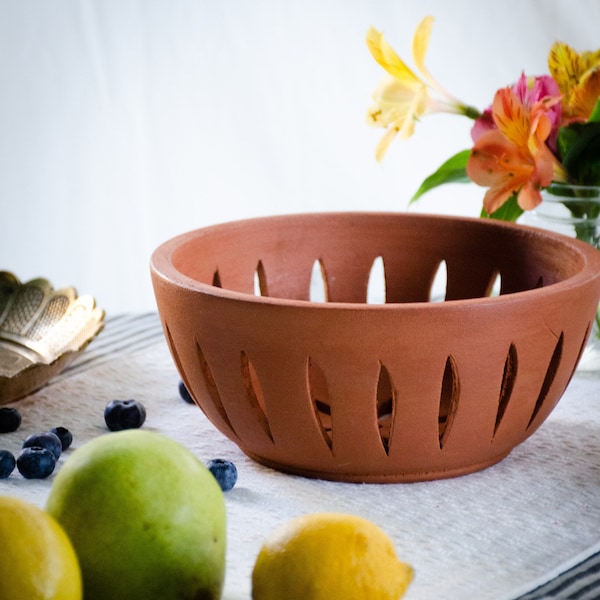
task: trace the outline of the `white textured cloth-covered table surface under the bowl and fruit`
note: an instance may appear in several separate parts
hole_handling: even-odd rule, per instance
[[[17,454],[27,435],[65,426],[74,442],[60,468],[73,449],[107,433],[108,401],[136,398],[147,409],[145,428],[203,462],[233,460],[239,479],[225,494],[225,600],[249,600],[254,560],[274,527],[318,511],[381,526],[415,569],[407,600],[600,597],[600,378],[576,375],[550,418],[499,464],[411,484],[336,483],[258,465],[180,398],[178,383],[155,313],[109,317],[63,374],[14,403],[23,422],[0,446]],[[43,507],[53,477],[26,480],[15,471],[0,493]]]

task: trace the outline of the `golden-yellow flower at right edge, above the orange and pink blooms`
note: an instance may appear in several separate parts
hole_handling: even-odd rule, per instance
[[[548,69],[563,94],[564,117],[587,120],[600,96],[600,50],[579,54],[568,44],[555,42]]]

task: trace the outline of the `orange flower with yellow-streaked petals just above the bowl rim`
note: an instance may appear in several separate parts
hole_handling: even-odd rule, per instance
[[[489,188],[483,199],[488,214],[513,194],[522,209],[535,208],[542,201],[540,189],[561,175],[545,144],[552,130],[546,113],[559,100],[542,99],[529,106],[510,88],[496,92],[492,116],[497,129],[479,137],[467,163],[470,179]]]

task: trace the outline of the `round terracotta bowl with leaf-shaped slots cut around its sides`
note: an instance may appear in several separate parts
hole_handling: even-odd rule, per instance
[[[377,264],[382,304],[367,303]],[[441,265],[445,299],[432,302]],[[414,214],[225,223],[167,241],[151,271],[208,419],[259,463],[355,482],[451,477],[507,456],[565,391],[600,298],[591,246]]]

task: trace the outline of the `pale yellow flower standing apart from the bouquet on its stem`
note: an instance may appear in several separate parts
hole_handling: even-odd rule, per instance
[[[377,145],[376,157],[381,160],[392,140],[399,135],[406,139],[414,132],[416,121],[432,112],[464,114],[472,118],[479,112],[464,105],[448,94],[430,75],[425,66],[433,17],[425,17],[417,27],[412,43],[413,61],[423,76],[416,75],[398,56],[384,35],[371,27],[367,32],[367,46],[373,58],[386,70],[387,76],[373,93],[367,122],[387,129]]]

